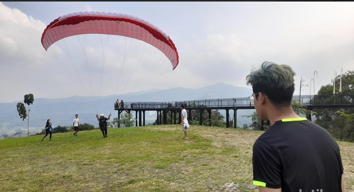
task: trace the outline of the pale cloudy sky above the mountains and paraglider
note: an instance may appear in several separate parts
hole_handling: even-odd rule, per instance
[[[352,10],[354,2],[1,2],[0,103],[29,93],[119,98],[219,82],[249,87],[246,76],[264,61],[293,68],[295,95],[314,94],[354,70]],[[80,35],[43,48],[51,21],[86,11],[151,23],[174,42],[178,66],[172,70],[155,47],[122,36]]]

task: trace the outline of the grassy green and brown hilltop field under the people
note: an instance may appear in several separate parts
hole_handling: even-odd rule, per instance
[[[252,145],[263,132],[179,125],[110,128],[0,140],[0,191],[258,191]],[[338,142],[346,191],[354,143]]]

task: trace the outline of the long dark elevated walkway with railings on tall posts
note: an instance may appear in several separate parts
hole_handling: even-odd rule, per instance
[[[294,100],[302,103],[308,110],[313,109],[339,109],[354,108],[354,94],[331,94],[331,95],[294,95]],[[118,118],[123,111],[136,113],[136,126],[145,126],[145,112],[156,111],[158,124],[167,124],[167,113],[170,112],[171,119],[169,124],[180,123],[180,106],[185,105],[188,112],[188,120],[191,117],[192,110],[199,110],[199,123],[203,124],[202,114],[204,110],[208,111],[209,119],[211,119],[211,110],[226,110],[226,126],[230,127],[229,111],[234,111],[233,122],[237,122],[237,110],[254,109],[248,98],[229,98],[229,99],[210,99],[210,100],[191,100],[191,101],[175,101],[175,102],[127,102],[124,108],[114,106],[114,110],[118,112]],[[177,115],[178,114],[178,115]],[[307,117],[311,120],[311,116]],[[233,123],[237,127],[236,123]],[[118,124],[118,127],[120,125]]]

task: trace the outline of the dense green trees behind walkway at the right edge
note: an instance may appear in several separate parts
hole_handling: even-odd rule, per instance
[[[339,92],[340,79],[342,82],[342,92]],[[342,76],[336,76],[335,79],[332,80],[332,84],[321,86],[321,88],[318,90],[318,95],[332,95],[333,92],[335,94],[354,94],[354,71],[346,71],[344,74],[342,74]],[[352,137],[352,132],[350,132],[350,127],[347,126],[348,118],[343,115],[353,114],[354,109],[325,108],[314,109],[314,111],[316,112],[316,120],[314,121],[316,124],[320,125],[321,127],[324,127],[324,129],[330,132],[331,135],[336,139],[342,141],[350,140],[350,138]],[[338,113],[338,111],[340,111],[341,113]],[[353,142],[353,140],[350,141]]]

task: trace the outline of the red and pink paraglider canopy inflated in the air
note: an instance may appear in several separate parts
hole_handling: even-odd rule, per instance
[[[162,51],[171,61],[172,70],[179,62],[177,48],[169,36],[152,24],[125,14],[79,12],[64,15],[44,29],[41,41],[47,51],[53,43],[61,39],[82,34],[118,35],[138,39]]]

